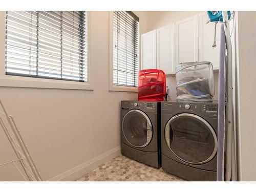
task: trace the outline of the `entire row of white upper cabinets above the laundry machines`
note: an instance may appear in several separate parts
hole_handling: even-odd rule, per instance
[[[206,24],[206,12],[180,20],[141,35],[141,69],[160,69],[165,74],[175,74],[180,62],[210,61],[215,70],[219,69],[220,27],[215,23]]]

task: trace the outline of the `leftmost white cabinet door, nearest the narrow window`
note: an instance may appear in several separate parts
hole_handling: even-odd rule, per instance
[[[141,69],[156,69],[156,30],[141,35]]]

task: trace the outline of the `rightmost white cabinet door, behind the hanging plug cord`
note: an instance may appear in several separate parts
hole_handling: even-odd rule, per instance
[[[212,45],[214,44],[215,23],[210,22],[206,24],[207,20],[207,13],[201,13],[198,15],[199,61],[210,61],[214,66],[214,69],[219,69],[221,24],[217,24],[216,47],[212,48]]]

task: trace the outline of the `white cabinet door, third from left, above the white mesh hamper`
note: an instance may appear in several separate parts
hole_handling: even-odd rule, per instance
[[[198,15],[175,23],[176,65],[198,61]]]

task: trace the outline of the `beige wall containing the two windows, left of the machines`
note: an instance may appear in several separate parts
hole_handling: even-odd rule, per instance
[[[0,14],[3,20],[3,12]],[[140,17],[140,32],[144,33],[147,13],[135,14]],[[5,28],[4,23],[0,28]],[[110,150],[109,157],[120,153],[120,101],[136,99],[137,93],[109,91],[108,11],[91,12],[91,62],[94,91],[0,87],[0,97],[22,130],[43,180],[59,174],[55,179],[68,176],[64,172],[91,163]],[[14,159],[0,129],[0,164]],[[0,167],[0,180],[22,177],[10,164]]]

